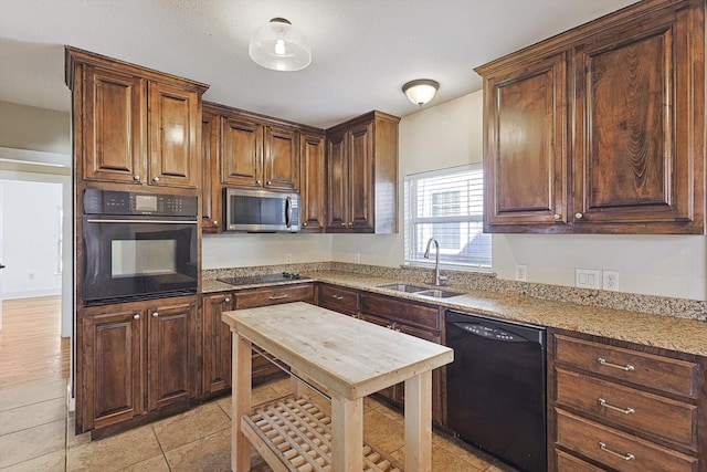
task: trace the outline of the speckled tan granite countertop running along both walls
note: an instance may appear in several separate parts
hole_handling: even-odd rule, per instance
[[[407,282],[389,277],[351,274],[336,271],[307,273],[310,280],[328,282],[351,289],[366,290],[400,298],[432,303],[449,308],[488,315],[496,318],[513,319],[553,328],[621,339],[636,344],[655,346],[682,353],[707,356],[707,324],[701,321],[686,319],[665,315],[630,312],[614,308],[587,306],[576,303],[534,298],[530,296],[497,292],[471,291],[455,286],[444,290],[461,292],[462,295],[450,298],[431,298],[404,292],[380,289],[379,285]],[[275,285],[300,283],[287,281]],[[415,285],[421,285],[414,283]],[[274,284],[267,284],[274,285]],[[422,284],[424,285],[424,284]],[[239,286],[251,289],[253,286]],[[260,285],[262,286],[262,285]],[[203,293],[235,290],[233,285],[209,280],[202,282]]]

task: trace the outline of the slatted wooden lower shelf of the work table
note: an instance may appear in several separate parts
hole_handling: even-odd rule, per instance
[[[241,431],[275,472],[331,472],[331,418],[307,397],[256,407],[241,418]],[[363,472],[402,472],[363,443]]]

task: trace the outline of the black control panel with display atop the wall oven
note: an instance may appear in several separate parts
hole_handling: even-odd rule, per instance
[[[197,217],[198,198],[184,195],[137,193],[86,189],[84,214],[147,214]]]

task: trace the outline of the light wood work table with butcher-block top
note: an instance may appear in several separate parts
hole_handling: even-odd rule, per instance
[[[273,470],[298,470],[283,461],[276,448],[263,444],[265,434],[253,431],[257,418],[253,420],[251,411],[252,344],[300,378],[323,386],[331,398],[330,457],[325,459],[330,462],[312,470],[362,471],[363,397],[401,381],[405,382],[405,470],[431,470],[432,370],[453,360],[452,349],[302,302],[225,312],[222,318],[233,334],[234,471],[250,470],[249,440]],[[329,451],[328,443],[323,450]]]

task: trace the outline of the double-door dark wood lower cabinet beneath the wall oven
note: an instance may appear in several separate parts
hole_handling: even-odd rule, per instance
[[[196,392],[196,296],[80,310],[76,431],[186,407]]]

